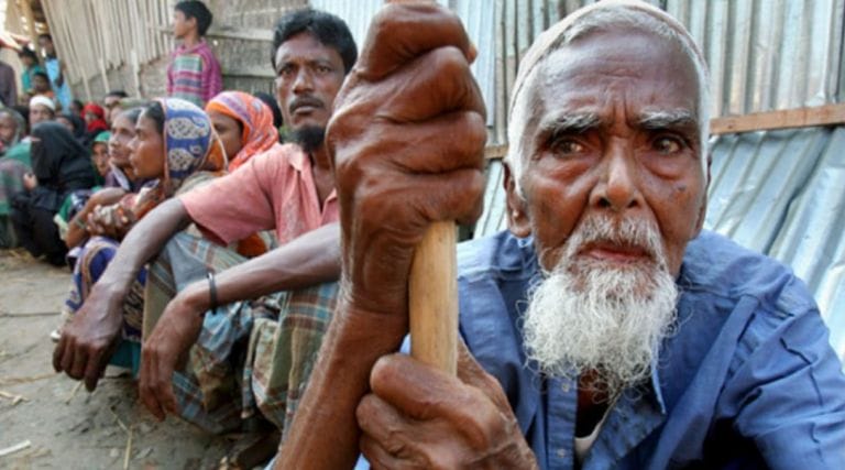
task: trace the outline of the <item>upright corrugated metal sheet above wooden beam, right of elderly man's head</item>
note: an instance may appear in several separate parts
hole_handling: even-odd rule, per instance
[[[713,116],[841,100],[843,0],[668,0],[704,51]]]

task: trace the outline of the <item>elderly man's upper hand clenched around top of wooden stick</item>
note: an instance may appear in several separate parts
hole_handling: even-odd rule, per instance
[[[414,249],[438,220],[481,214],[484,103],[460,20],[391,4],[334,101],[327,142],[341,205],[343,292],[355,308],[407,315]]]

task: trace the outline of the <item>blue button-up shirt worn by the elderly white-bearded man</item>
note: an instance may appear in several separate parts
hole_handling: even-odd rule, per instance
[[[531,239],[458,250],[460,328],[511,402],[540,468],[571,469],[578,387],[526,362],[518,318],[539,278]],[[845,376],[803,283],[703,232],[677,280],[678,330],[651,381],[610,409],[583,468],[845,469]]]

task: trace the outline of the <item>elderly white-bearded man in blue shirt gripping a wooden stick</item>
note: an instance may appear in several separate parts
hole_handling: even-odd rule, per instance
[[[328,134],[342,298],[276,468],[845,468],[845,376],[812,297],[702,230],[706,67],[648,4],[599,2],[528,51],[509,231],[459,247],[458,376],[392,353],[425,228],[480,210],[473,58],[435,7],[371,26]]]

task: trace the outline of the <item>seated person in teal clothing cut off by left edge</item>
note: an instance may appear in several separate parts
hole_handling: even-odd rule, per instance
[[[12,197],[23,190],[23,175],[32,172],[26,121],[12,109],[0,109],[0,248],[14,248],[18,239],[10,218]]]

